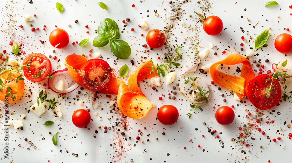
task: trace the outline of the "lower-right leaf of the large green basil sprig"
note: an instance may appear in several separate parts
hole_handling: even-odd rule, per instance
[[[119,59],[127,59],[132,51],[129,44],[124,40],[113,40],[110,42],[110,48],[114,56]]]

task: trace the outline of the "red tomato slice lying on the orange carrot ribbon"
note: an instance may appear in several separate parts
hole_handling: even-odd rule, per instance
[[[89,91],[99,91],[112,79],[112,68],[102,59],[90,59],[80,68],[80,84]]]

